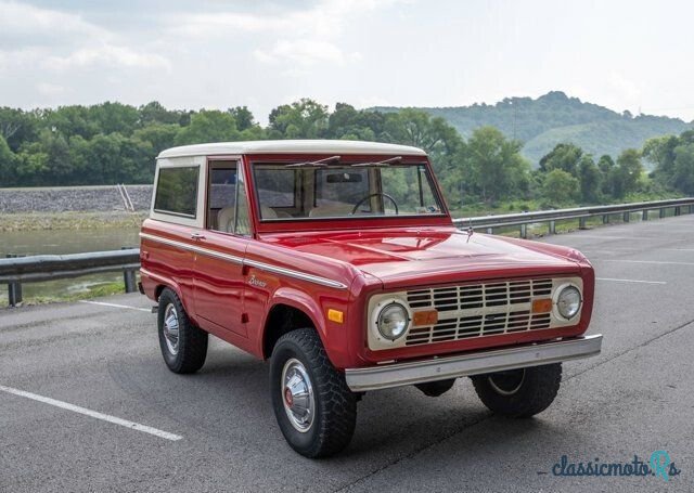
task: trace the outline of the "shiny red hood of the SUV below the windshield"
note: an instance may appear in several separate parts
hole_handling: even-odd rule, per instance
[[[387,287],[446,283],[465,278],[574,274],[577,262],[509,242],[503,237],[454,228],[339,231],[272,235],[265,241],[345,262]]]

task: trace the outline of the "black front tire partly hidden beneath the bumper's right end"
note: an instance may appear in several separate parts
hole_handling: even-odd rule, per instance
[[[486,374],[471,377],[475,391],[481,402],[493,413],[504,416],[525,418],[535,416],[547,410],[562,382],[562,363],[554,363],[542,366],[531,366],[523,368],[525,375],[522,382],[515,390],[504,394],[500,393],[490,377],[494,375]]]

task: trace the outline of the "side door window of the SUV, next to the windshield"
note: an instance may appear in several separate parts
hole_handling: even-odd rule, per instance
[[[249,235],[248,200],[243,173],[235,161],[210,164],[207,229]]]

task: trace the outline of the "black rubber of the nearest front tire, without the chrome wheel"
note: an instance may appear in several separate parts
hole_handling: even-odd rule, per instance
[[[295,429],[284,407],[283,369],[292,359],[304,365],[313,389],[316,413],[305,432]],[[270,360],[270,395],[282,434],[299,454],[327,457],[350,442],[357,423],[357,394],[347,387],[344,373],[327,359],[316,329],[292,330],[277,341]]]

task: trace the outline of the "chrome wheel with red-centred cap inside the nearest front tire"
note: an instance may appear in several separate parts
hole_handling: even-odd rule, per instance
[[[306,367],[294,358],[282,369],[282,403],[292,426],[307,432],[316,416],[316,399]]]

